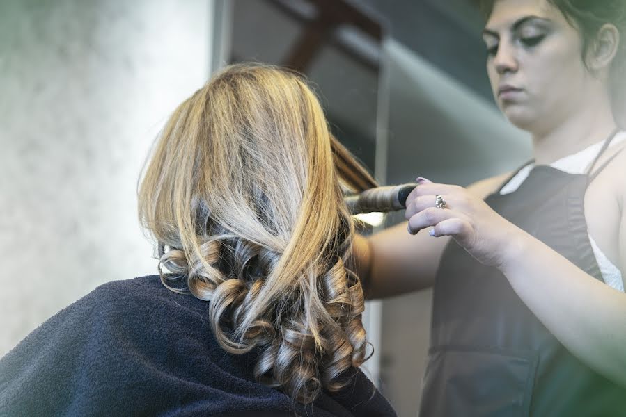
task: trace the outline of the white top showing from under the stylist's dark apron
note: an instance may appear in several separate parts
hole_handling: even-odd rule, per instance
[[[609,147],[613,147],[620,142],[626,140],[626,131],[619,132],[613,140],[611,140],[611,144]],[[584,174],[589,169],[589,166],[595,160],[597,154],[602,149],[602,145],[604,145],[604,140],[602,142],[597,142],[586,149],[583,149],[581,152],[577,152],[576,154],[565,156],[564,158],[551,163],[550,166],[556,168],[557,170],[568,172],[569,174]],[[519,172],[512,177],[505,186],[500,190],[500,194],[509,194],[513,191],[517,190],[519,186],[522,185],[526,178],[528,178],[531,170],[535,166],[534,163],[526,165],[519,170]],[[609,286],[615,288],[618,291],[624,291],[624,281],[622,279],[622,273],[619,268],[616,267],[609,258],[600,250],[600,247],[597,246],[595,240],[589,234],[587,230],[587,234],[589,235],[589,241],[591,243],[591,248],[593,249],[593,254],[595,254],[595,260],[597,261],[598,267],[600,267],[600,272],[602,272],[602,278],[604,282],[606,282]]]

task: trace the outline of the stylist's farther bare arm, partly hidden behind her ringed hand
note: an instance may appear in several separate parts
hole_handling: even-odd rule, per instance
[[[478,181],[467,190],[484,199],[507,176],[503,174]],[[357,236],[354,240],[354,256],[357,275],[361,277],[366,298],[391,297],[432,286],[441,254],[449,239],[448,236],[433,239],[428,235],[428,229],[411,235],[407,231],[407,222],[369,238]]]

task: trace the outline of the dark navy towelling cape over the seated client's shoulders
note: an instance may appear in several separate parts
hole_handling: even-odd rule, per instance
[[[159,277],[112,281],[0,359],[0,416],[295,416],[287,395],[253,380],[255,355],[224,352],[208,303]],[[351,378],[297,414],[396,415],[360,370]]]

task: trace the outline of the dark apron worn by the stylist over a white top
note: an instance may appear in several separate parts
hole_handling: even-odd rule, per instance
[[[485,201],[602,281],[584,195],[606,165],[593,177],[539,165],[515,192]],[[568,352],[499,270],[454,240],[441,258],[433,297],[420,416],[626,416],[626,389]]]

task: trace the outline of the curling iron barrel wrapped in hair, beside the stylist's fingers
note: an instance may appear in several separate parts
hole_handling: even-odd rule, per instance
[[[407,197],[417,184],[409,183],[400,186],[376,187],[365,190],[357,195],[343,197],[350,213],[387,213],[406,208]]]

